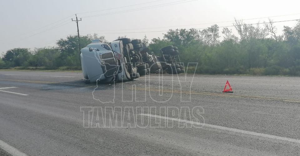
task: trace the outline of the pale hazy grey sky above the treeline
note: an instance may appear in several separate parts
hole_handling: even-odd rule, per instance
[[[53,46],[56,40],[69,34],[76,34],[76,24],[71,21],[71,18],[75,19],[75,13],[79,18],[82,17],[82,21],[79,22],[81,34],[97,33],[104,35],[108,41],[113,41],[118,36],[124,35],[143,39],[146,34],[148,39],[152,39],[162,37],[164,32],[149,31],[206,28],[212,25],[203,23],[227,26],[232,25],[231,21],[234,18],[277,16],[272,19],[274,21],[300,19],[299,6],[299,0],[2,0],[0,53],[18,47],[33,49]],[[222,21],[229,22],[217,23]],[[267,21],[267,18],[245,22],[258,21]],[[295,24],[296,21],[276,23],[277,33],[282,33],[284,25]]]

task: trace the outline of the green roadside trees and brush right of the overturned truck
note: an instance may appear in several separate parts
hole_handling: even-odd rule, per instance
[[[236,21],[234,28],[238,36],[223,28],[222,41],[218,25],[169,30],[163,39],[152,39],[149,47],[157,52],[176,45],[181,62],[198,63],[196,73],[300,76],[300,21],[294,27],[284,26],[281,35],[271,20],[263,25]]]

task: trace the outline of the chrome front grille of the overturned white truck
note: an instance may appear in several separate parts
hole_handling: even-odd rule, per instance
[[[113,76],[118,71],[118,67],[116,65],[116,60],[113,53],[104,53],[102,54],[102,60],[105,64],[104,76],[110,77]]]

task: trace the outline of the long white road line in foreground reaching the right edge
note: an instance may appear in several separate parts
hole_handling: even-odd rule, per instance
[[[229,127],[210,125],[210,124],[201,123],[201,122],[192,122],[192,121],[188,121],[188,120],[176,119],[176,118],[172,118],[172,117],[163,117],[163,116],[152,115],[152,114],[143,114],[142,113],[142,114],[138,114],[138,115],[147,116],[147,117],[155,117],[155,118],[160,118],[160,119],[173,120],[173,121],[184,122],[184,123],[193,124],[193,125],[202,125],[202,126],[206,126],[206,127],[210,127],[210,128],[215,128],[215,129],[225,130],[225,131],[232,131],[232,132],[237,132],[237,133],[242,133],[242,134],[247,134],[247,135],[255,135],[255,136],[271,138],[271,139],[276,139],[276,140],[283,140],[283,141],[289,141],[289,142],[294,142],[294,143],[300,143],[300,140],[297,140],[297,139],[285,138],[285,137],[281,137],[281,136],[269,135],[269,134],[251,132],[251,131],[244,131],[244,130],[229,128]]]

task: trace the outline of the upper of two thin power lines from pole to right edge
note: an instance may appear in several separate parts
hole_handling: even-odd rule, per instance
[[[290,15],[299,15],[299,14],[300,13],[288,14],[288,15],[278,15],[278,16],[268,16],[268,17],[258,17],[258,18],[248,18],[248,19],[243,19],[243,21],[263,19],[263,18],[272,18],[272,17],[281,17],[281,16],[290,16]],[[159,28],[182,27],[182,26],[193,26],[193,25],[206,25],[206,24],[227,23],[227,22],[234,22],[234,21],[220,21],[220,22],[200,23],[200,24],[191,24],[191,25],[175,25],[175,26],[163,26],[163,27],[152,27],[152,28],[120,29],[120,30],[97,30],[97,31],[145,30],[145,29],[159,29]],[[81,31],[90,31],[90,30],[81,30]]]

